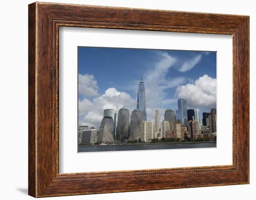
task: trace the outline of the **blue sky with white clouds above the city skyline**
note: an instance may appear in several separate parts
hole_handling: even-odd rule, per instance
[[[108,107],[134,110],[141,69],[149,120],[180,97],[201,117],[216,108],[216,52],[78,47],[79,123],[95,126]]]

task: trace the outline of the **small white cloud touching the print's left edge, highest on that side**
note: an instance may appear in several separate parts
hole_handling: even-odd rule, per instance
[[[78,92],[83,97],[99,96],[98,84],[91,74],[78,74]]]

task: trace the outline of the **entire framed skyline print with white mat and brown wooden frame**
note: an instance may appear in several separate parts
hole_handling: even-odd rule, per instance
[[[249,17],[33,3],[34,197],[249,183]]]

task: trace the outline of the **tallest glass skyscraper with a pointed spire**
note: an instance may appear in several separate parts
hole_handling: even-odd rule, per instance
[[[141,70],[141,81],[139,82],[139,85],[138,85],[137,109],[141,110],[143,121],[147,121],[146,95],[145,95],[145,85],[142,77],[142,70]]]

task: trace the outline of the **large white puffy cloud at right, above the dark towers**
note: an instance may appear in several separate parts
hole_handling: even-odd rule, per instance
[[[178,86],[175,95],[187,99],[189,107],[216,108],[216,78],[205,74],[194,84]]]

